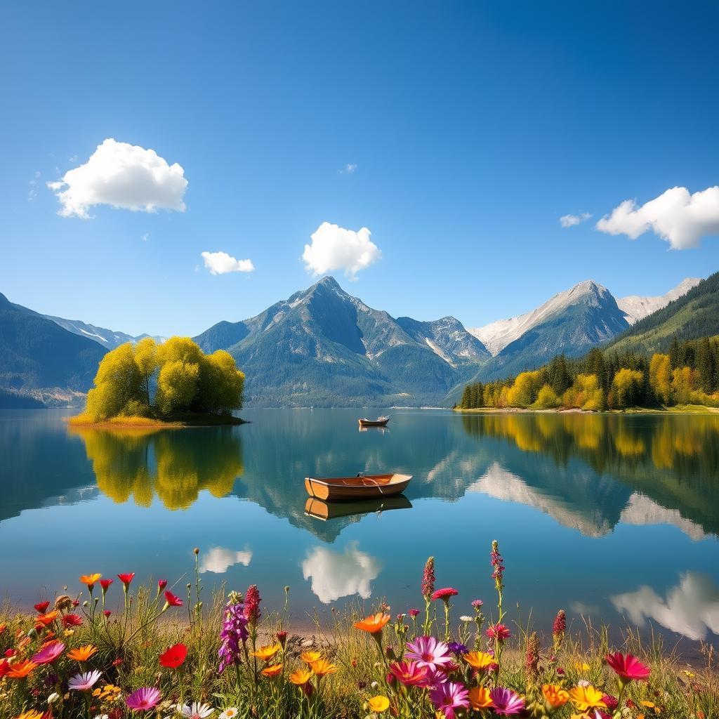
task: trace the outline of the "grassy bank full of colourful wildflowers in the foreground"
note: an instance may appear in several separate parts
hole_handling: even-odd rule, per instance
[[[562,611],[541,637],[511,623],[496,545],[491,559],[492,610],[449,587],[436,590],[430,559],[418,576],[421,609],[390,615],[379,603],[367,617],[333,610],[331,626],[316,620],[311,638],[293,634],[288,588],[285,605],[270,612],[254,585],[244,595],[205,597],[198,558],[194,582],[181,591],[163,581],[137,587],[133,574],[83,576],[73,582],[77,594],[33,614],[2,611],[0,716],[717,716],[710,650],[701,667],[688,667],[660,641],[627,633],[623,653],[613,654],[605,628],[575,635]]]

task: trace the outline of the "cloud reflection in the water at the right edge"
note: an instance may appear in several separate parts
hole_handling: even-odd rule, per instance
[[[653,619],[694,640],[705,638],[707,631],[719,634],[719,590],[705,574],[687,572],[664,599],[646,586],[609,598],[637,626]]]

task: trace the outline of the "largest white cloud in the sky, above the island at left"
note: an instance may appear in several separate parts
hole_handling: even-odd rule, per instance
[[[48,182],[60,200],[58,214],[88,219],[88,210],[110,205],[132,211],[185,211],[183,196],[188,182],[185,171],[155,150],[106,139],[90,159],[68,170],[63,178]]]

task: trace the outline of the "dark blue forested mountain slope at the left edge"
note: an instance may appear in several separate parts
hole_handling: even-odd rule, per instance
[[[97,342],[0,294],[0,386],[50,403],[68,403],[92,385],[105,354]]]

